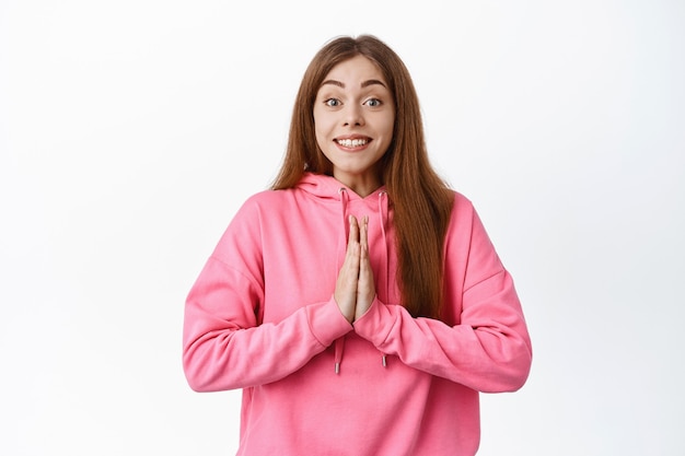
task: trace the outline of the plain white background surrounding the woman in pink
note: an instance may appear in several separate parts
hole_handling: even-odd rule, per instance
[[[0,454],[233,454],[187,291],[266,188],[314,52],[405,60],[516,281],[527,384],[479,455],[685,454],[685,2],[0,1]],[[265,436],[268,437],[268,436]],[[344,443],[340,443],[344,444]]]

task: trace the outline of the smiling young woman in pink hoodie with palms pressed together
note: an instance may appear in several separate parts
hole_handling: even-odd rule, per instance
[[[429,164],[397,55],[372,36],[310,63],[272,189],[187,297],[198,391],[243,388],[239,455],[474,455],[478,391],[525,382],[512,279]]]

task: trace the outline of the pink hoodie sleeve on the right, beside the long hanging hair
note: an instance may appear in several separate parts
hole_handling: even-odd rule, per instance
[[[355,331],[405,364],[487,391],[526,381],[531,340],[509,272],[471,203],[463,197],[445,239],[445,320],[414,318],[378,299]]]

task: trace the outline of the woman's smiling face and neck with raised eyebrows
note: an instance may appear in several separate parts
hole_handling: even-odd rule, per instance
[[[316,142],[333,176],[362,197],[381,186],[378,163],[394,122],[393,95],[371,60],[356,56],[326,74],[314,102]]]

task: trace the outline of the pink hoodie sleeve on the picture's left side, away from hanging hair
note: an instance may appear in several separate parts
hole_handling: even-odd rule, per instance
[[[197,391],[278,381],[351,330],[333,299],[303,306],[277,324],[260,324],[259,226],[257,206],[244,204],[187,296],[183,367]]]

